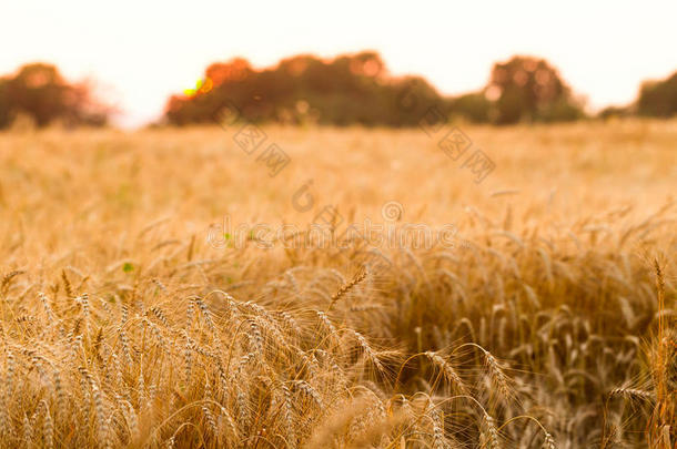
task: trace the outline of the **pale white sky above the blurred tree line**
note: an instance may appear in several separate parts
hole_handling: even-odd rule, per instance
[[[677,70],[677,1],[0,0],[0,73],[33,61],[90,78],[120,125],[160,116],[215,61],[376,50],[445,94],[482,88],[493,62],[546,58],[590,109],[633,101]]]

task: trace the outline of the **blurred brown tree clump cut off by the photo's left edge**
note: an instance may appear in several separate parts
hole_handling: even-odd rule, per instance
[[[109,113],[92,101],[84,84],[67,83],[50,64],[28,64],[16,76],[0,79],[0,127],[18,114],[31,116],[38,126],[57,119],[69,125],[103,125]]]

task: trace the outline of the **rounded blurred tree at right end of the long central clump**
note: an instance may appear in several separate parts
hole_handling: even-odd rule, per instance
[[[514,57],[494,64],[485,94],[494,101],[492,116],[498,124],[583,116],[569,88],[543,59]]]

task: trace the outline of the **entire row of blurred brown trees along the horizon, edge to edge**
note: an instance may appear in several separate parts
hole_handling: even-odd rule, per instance
[[[255,70],[242,58],[211,64],[213,88],[172,95],[158,124],[210,123],[229,102],[247,121],[290,124],[415,126],[436,106],[448,119],[473,123],[549,123],[593,118],[677,114],[677,72],[644,82],[637,100],[594,116],[557,69],[533,57],[495,63],[486,86],[458,96],[441,94],[421,76],[393,76],[378,53],[365,51],[332,60],[295,55]],[[18,122],[39,127],[105,125],[112,109],[93,99],[84,83],[69,83],[50,64],[32,63],[0,78],[0,129]]]

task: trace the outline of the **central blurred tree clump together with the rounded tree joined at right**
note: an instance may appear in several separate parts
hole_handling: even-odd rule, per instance
[[[431,108],[444,118],[516,123],[583,116],[580,105],[544,60],[516,57],[496,64],[481,92],[456,99],[441,95],[421,76],[393,78],[373,51],[333,60],[301,54],[276,67],[254,70],[244,59],[214,63],[205,71],[209,93],[172,96],[171,124],[206,123],[226,101],[251,122],[314,122],[333,125],[416,126]]]

